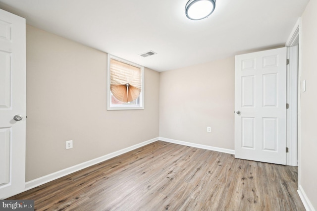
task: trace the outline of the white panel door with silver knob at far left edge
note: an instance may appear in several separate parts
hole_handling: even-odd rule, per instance
[[[25,19],[0,9],[0,199],[25,187],[25,68]]]

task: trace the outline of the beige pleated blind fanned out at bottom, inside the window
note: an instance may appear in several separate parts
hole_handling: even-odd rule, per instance
[[[141,68],[111,58],[110,90],[120,102],[136,100],[141,93]]]

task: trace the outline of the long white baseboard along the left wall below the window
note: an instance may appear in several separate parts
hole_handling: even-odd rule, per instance
[[[37,187],[39,185],[43,185],[43,184],[45,184],[47,182],[51,182],[51,181],[53,181],[55,179],[58,179],[60,177],[66,176],[68,174],[74,173],[76,171],[82,170],[82,169],[87,168],[89,166],[92,166],[92,165],[95,165],[97,163],[103,162],[103,161],[105,161],[107,159],[114,158],[116,156],[119,156],[119,155],[122,155],[124,153],[127,153],[127,152],[130,152],[132,150],[135,150],[135,149],[137,149],[139,147],[143,147],[143,146],[145,146],[147,144],[151,144],[151,143],[153,143],[155,141],[158,141],[158,140],[159,140],[159,137],[151,139],[151,140],[148,140],[148,141],[145,141],[145,142],[142,142],[140,144],[133,145],[131,147],[127,147],[125,149],[122,149],[122,150],[107,154],[107,155],[99,157],[99,158],[95,158],[95,159],[92,159],[92,160],[89,160],[89,161],[86,161],[86,162],[83,162],[83,163],[79,163],[79,164],[71,166],[69,168],[65,168],[65,169],[62,169],[60,171],[56,171],[54,173],[45,175],[43,177],[31,180],[31,181],[25,183],[25,190],[23,190],[23,192],[27,191],[27,190],[30,190],[32,188],[35,188],[35,187]]]

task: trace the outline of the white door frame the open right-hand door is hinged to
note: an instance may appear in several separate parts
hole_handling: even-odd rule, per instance
[[[286,47],[292,47],[298,45],[298,69],[297,71],[294,70],[294,67],[291,65],[287,65],[288,69],[288,77],[287,77],[287,103],[290,104],[288,111],[286,112],[286,119],[287,119],[287,127],[286,127],[286,147],[289,148],[289,153],[286,154],[286,165],[292,166],[300,166],[300,137],[301,137],[301,105],[300,105],[300,84],[301,84],[301,18],[298,18],[296,24],[293,27],[293,30],[285,44]],[[296,54],[296,53],[295,53]],[[288,48],[287,58],[292,58],[294,56],[293,50]],[[292,79],[297,78],[297,84],[292,82]],[[297,96],[292,95],[290,90],[297,87]],[[297,98],[297,100],[296,100]],[[296,106],[292,106],[292,104],[297,104]],[[297,118],[296,118],[297,117]],[[297,131],[297,133],[294,131]],[[299,171],[300,177],[300,171]]]

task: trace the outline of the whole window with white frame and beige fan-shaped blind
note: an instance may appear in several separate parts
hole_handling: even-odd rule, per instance
[[[144,67],[108,54],[108,110],[144,109]]]

